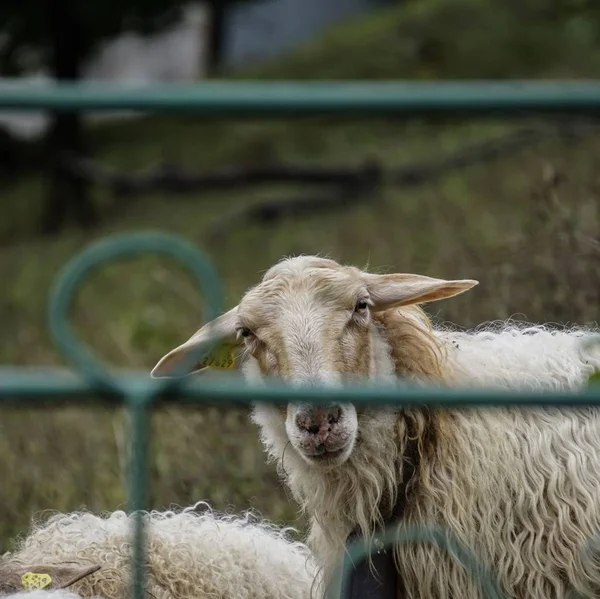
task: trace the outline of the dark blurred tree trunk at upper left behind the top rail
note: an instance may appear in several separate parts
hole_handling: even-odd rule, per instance
[[[77,0],[57,0],[48,4],[51,31],[50,69],[57,81],[76,81],[81,76],[84,56],[82,23],[77,18]],[[67,154],[85,152],[81,116],[76,112],[55,112],[47,136],[48,196],[42,214],[42,231],[58,232],[69,213],[82,227],[97,222],[96,210],[90,200],[87,185],[69,173],[61,161]]]

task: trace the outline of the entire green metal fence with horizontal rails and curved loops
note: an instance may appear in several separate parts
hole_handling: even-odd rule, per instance
[[[0,109],[10,110],[142,110],[191,111],[201,115],[299,116],[320,113],[375,115],[435,115],[463,113],[467,116],[502,114],[520,117],[539,113],[600,113],[600,83],[560,81],[528,82],[207,82],[198,85],[114,87],[108,85],[0,84]],[[239,378],[215,382],[202,377],[152,380],[148,372],[109,372],[94,358],[69,323],[74,295],[84,279],[106,263],[148,252],[171,256],[185,264],[196,278],[207,304],[207,319],[221,313],[219,277],[208,258],[185,240],[156,232],[108,237],[75,256],[59,275],[50,296],[48,324],[56,345],[75,371],[63,369],[0,368],[0,402],[19,406],[56,406],[64,402],[94,400],[118,402],[131,414],[131,478],[128,508],[140,515],[147,508],[149,413],[159,402],[208,402],[249,404],[252,401],[396,405],[598,405],[600,387],[578,393],[502,393],[417,389],[408,385],[354,385],[346,389],[303,390],[281,383],[253,387]],[[207,350],[208,351],[208,350]],[[201,356],[190,356],[196,360]],[[436,543],[449,551],[480,581],[486,597],[500,598],[491,573],[469,548],[447,531],[430,527],[403,527],[382,531],[379,541]],[[595,539],[591,539],[596,541]],[[366,555],[362,541],[351,545],[328,596],[339,596],[341,577],[347,568]],[[144,528],[137,517],[134,527],[134,599],[144,597]],[[572,597],[577,595],[573,594]]]

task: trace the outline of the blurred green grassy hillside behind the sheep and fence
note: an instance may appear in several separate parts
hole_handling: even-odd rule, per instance
[[[356,20],[247,78],[597,77],[600,42],[585,19],[540,17],[535,2],[422,0]],[[203,122],[148,117],[90,127],[95,156],[119,169],[168,157],[202,169],[261,164],[397,167],[501,137],[523,122],[310,118]],[[93,234],[70,228],[27,239],[36,226],[43,179],[2,190],[0,361],[65,364],[46,326],[48,291],[62,265],[93,239],[160,229],[196,243],[217,266],[226,306],[284,255],[328,254],[378,270],[476,278],[473,291],[429,312],[461,326],[514,317],[591,324],[600,299],[600,140],[549,140],[491,164],[457,170],[414,190],[385,187],[352,209],[238,227],[224,239],[214,219],[290,186],[249,192],[121,199]],[[100,206],[111,199],[95,190]],[[203,322],[202,298],[177,264],[153,256],[112,265],[82,289],[74,321],[107,362],[150,370]],[[126,427],[108,408],[0,410],[0,551],[39,510],[117,509],[125,501]],[[151,505],[207,500],[217,509],[252,507],[303,528],[274,468],[265,464],[247,412],[169,408],[153,418]]]

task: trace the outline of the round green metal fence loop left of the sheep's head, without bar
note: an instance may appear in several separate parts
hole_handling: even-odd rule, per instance
[[[206,255],[182,237],[167,233],[142,231],[111,235],[96,241],[76,254],[59,273],[50,293],[48,326],[57,348],[82,374],[88,377],[99,389],[124,394],[126,389],[113,377],[92,354],[89,346],[81,341],[70,323],[69,313],[77,291],[92,274],[108,262],[131,258],[148,253],[170,256],[192,273],[206,298],[207,320],[219,315],[222,305],[222,290],[219,276]],[[178,370],[200,360],[211,348],[192,352]],[[183,379],[152,380],[148,377],[147,393],[128,395],[128,401],[151,401],[156,396],[182,384]],[[138,390],[139,391],[139,390]]]

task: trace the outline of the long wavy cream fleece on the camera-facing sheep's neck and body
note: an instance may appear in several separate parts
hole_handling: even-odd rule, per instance
[[[494,323],[473,332],[434,331],[447,349],[446,368],[459,386],[576,389],[598,354],[581,342],[584,329]],[[389,352],[379,346],[384,370]],[[270,458],[312,518],[309,545],[325,580],[359,526],[382,524],[382,497],[402,483],[406,419],[418,411],[370,409],[359,415],[360,447],[341,466],[320,470],[289,449],[281,416],[257,405],[253,418]],[[407,522],[439,524],[473,548],[510,597],[600,593],[600,561],[581,557],[600,534],[600,411],[450,410],[435,456],[422,456],[418,496]],[[286,451],[287,449],[287,451]],[[410,598],[480,597],[476,581],[443,552],[400,545],[399,571]],[[598,554],[597,554],[598,555]],[[456,594],[455,594],[456,593]]]

